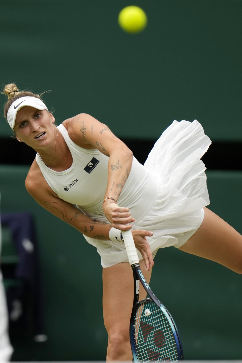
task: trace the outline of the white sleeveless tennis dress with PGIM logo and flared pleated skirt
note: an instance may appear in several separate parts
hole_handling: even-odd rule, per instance
[[[57,172],[48,168],[37,154],[42,174],[58,197],[77,205],[87,216],[108,222],[102,209],[108,157],[97,149],[73,143],[63,125],[57,128],[70,149],[73,163],[69,169]],[[128,207],[136,219],[132,229],[153,232],[152,237],[147,237],[153,254],[158,248],[182,246],[201,225],[202,208],[209,204],[209,196],[206,168],[200,158],[210,144],[197,120],[175,120],[157,140],[144,166],[133,157],[118,205]],[[128,261],[122,242],[84,237],[97,248],[103,267]]]

